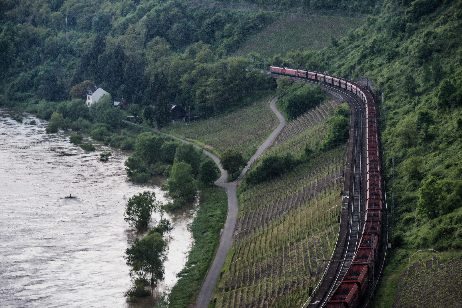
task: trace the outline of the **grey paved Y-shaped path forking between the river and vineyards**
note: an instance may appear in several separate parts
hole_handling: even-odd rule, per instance
[[[263,154],[263,152],[268,148],[268,146],[271,145],[274,139],[276,139],[280,131],[282,131],[282,129],[286,126],[286,118],[276,108],[277,100],[278,100],[278,97],[274,97],[269,103],[269,108],[273,110],[274,114],[276,114],[276,116],[279,119],[278,127],[276,127],[276,129],[260,145],[260,147],[257,149],[255,154],[252,157],[250,157],[250,160],[247,163],[247,166],[244,167],[241,174],[237,177],[236,181],[227,183],[226,179],[228,178],[228,174],[221,167],[220,160],[218,159],[218,157],[216,157],[209,151],[204,150],[204,153],[210,156],[220,168],[221,177],[217,181],[215,181],[215,184],[225,188],[226,193],[228,194],[228,216],[226,217],[225,228],[223,229],[223,232],[221,233],[220,245],[218,247],[217,254],[215,254],[215,259],[213,259],[212,266],[207,272],[207,276],[205,278],[204,284],[202,284],[202,288],[199,292],[199,296],[197,297],[197,306],[196,306],[197,308],[207,308],[208,307],[210,297],[212,296],[213,289],[215,288],[215,284],[217,283],[217,280],[218,280],[218,276],[220,274],[220,271],[223,265],[225,264],[226,255],[228,254],[228,251],[231,247],[231,240],[233,238],[234,228],[236,227],[237,210],[238,210],[237,195],[236,195],[237,181],[243,178],[245,172],[249,169],[250,165],[255,161],[255,159],[257,159],[258,157],[261,156],[261,154]],[[128,123],[132,123],[132,122],[128,122]],[[163,133],[157,129],[152,128],[152,130],[158,133],[162,133],[164,135],[170,136],[176,140],[180,140],[184,143],[189,143],[188,141],[179,139],[167,133]],[[201,149],[201,147],[197,145],[194,145],[194,146],[196,148]]]

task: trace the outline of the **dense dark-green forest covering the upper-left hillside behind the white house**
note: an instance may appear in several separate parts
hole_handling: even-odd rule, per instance
[[[274,86],[246,78],[246,60],[229,54],[278,14],[182,1],[2,1],[1,97],[81,99],[69,92],[90,80],[165,116],[169,103],[210,115],[238,102],[242,88]]]

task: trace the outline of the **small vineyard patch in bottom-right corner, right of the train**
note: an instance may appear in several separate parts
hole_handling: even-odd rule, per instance
[[[396,307],[460,307],[462,299],[461,256],[450,260],[419,255],[419,261],[404,272]],[[430,260],[429,260],[430,259]],[[401,295],[399,294],[401,293]]]

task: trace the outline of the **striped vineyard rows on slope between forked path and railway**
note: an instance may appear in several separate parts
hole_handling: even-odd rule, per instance
[[[335,106],[318,106],[289,123],[267,152],[298,156],[305,143],[318,145]],[[345,156],[342,146],[319,152],[289,174],[238,189],[237,227],[215,307],[303,305],[327,265],[313,259],[329,259],[337,240]]]

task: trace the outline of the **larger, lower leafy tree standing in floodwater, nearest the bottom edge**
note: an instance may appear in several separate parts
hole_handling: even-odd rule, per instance
[[[154,232],[140,239],[125,250],[124,259],[131,267],[130,276],[136,281],[146,281],[147,275],[151,284],[164,277],[164,261],[167,259],[167,243],[160,233]]]

